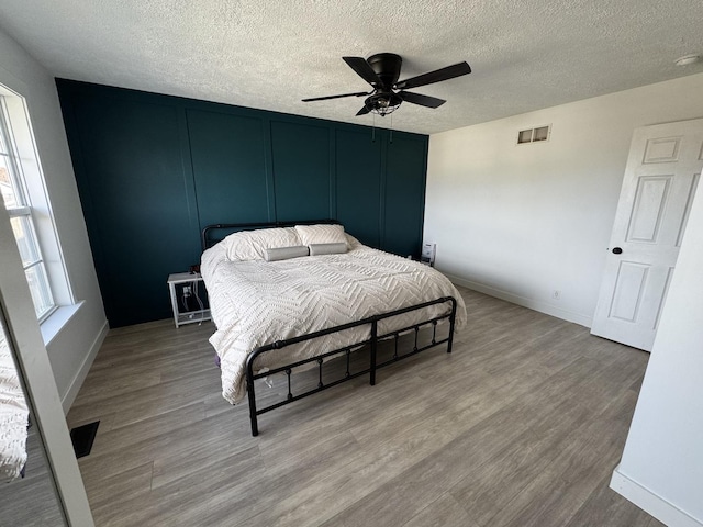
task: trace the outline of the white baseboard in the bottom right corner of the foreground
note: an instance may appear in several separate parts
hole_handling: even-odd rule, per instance
[[[703,519],[695,519],[671,502],[629,479],[620,471],[620,466],[613,471],[610,486],[624,498],[666,525],[672,527],[703,527]]]

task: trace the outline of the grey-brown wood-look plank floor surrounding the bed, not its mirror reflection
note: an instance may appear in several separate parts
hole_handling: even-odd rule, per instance
[[[607,487],[648,354],[461,293],[451,355],[265,414],[256,438],[210,323],[111,330],[68,415],[100,419],[79,460],[97,525],[661,525]]]

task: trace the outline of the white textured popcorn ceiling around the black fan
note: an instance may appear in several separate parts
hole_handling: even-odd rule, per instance
[[[314,117],[355,117],[366,90],[342,56],[392,52],[401,80],[467,60],[413,91],[393,127],[436,133],[703,71],[701,0],[0,0],[0,27],[56,77]],[[390,117],[376,117],[389,126]]]

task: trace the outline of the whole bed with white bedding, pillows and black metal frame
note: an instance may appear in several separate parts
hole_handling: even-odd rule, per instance
[[[207,232],[235,229],[203,251],[201,273],[216,330],[210,343],[217,354],[222,394],[232,404],[248,395],[252,433],[257,416],[369,374],[395,360],[442,344],[451,351],[454,329],[466,322],[466,309],[454,285],[438,271],[420,262],[364,246],[337,224],[215,225]],[[248,227],[248,226],[247,226]],[[438,324],[448,323],[448,336],[436,338]],[[428,326],[432,341],[419,346],[417,334]],[[412,351],[383,363],[376,361],[381,339],[415,334]],[[369,351],[368,366],[349,371],[349,355]],[[342,379],[323,382],[323,365],[346,358]],[[317,386],[293,394],[294,368],[320,369]],[[288,375],[282,401],[257,407],[255,382],[275,373]]]

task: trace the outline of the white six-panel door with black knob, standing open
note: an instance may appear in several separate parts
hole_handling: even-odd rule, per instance
[[[703,167],[703,119],[635,130],[591,333],[651,351]]]

